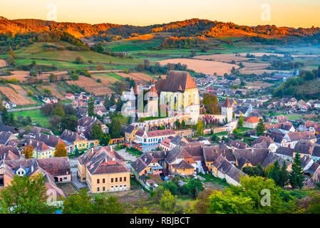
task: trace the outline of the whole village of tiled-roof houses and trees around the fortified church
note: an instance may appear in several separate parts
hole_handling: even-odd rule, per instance
[[[68,93],[68,108],[76,110],[78,120],[74,130],[58,135],[38,126],[26,131],[1,124],[1,187],[10,185],[14,175],[38,173],[46,177],[47,191],[55,190],[58,197],[68,197],[63,183],[91,194],[136,191],[139,185],[155,191],[176,176],[181,185],[191,178],[206,186],[204,176],[212,175],[237,186],[240,177],[250,175],[248,167],[267,169],[277,162],[290,172],[296,154],[303,186],[319,185],[319,123],[262,116],[267,95],[220,100],[217,90],[200,86],[205,81],[187,71],[169,71],[163,79],[103,100]],[[54,104],[43,104],[43,110]],[[268,107],[282,105],[304,112],[317,110],[319,101],[287,98]],[[123,118],[130,124],[120,123]]]

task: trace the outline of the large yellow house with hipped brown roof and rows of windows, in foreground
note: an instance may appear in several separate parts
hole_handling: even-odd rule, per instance
[[[125,159],[112,147],[93,147],[78,157],[78,177],[92,193],[130,190]]]

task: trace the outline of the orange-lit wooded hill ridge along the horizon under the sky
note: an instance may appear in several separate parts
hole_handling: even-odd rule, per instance
[[[262,36],[264,38],[281,38],[285,36],[315,36],[320,33],[320,28],[289,28],[277,26],[240,26],[231,22],[210,21],[204,19],[188,19],[175,21],[169,24],[151,26],[130,26],[118,24],[84,24],[71,22],[43,21],[38,19],[9,20],[0,17],[0,33],[11,32],[53,32],[66,31],[76,38],[113,35],[118,38],[130,38],[148,33],[171,32],[175,36]]]

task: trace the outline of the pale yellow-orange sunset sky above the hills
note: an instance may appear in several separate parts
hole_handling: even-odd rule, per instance
[[[0,16],[132,25],[199,18],[305,28],[320,26],[320,0],[1,0]]]

